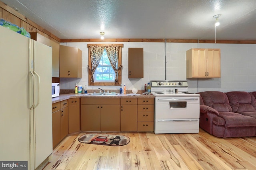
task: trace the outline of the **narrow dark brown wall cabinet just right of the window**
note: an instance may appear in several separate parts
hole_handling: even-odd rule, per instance
[[[143,48],[128,48],[128,78],[143,78]]]

